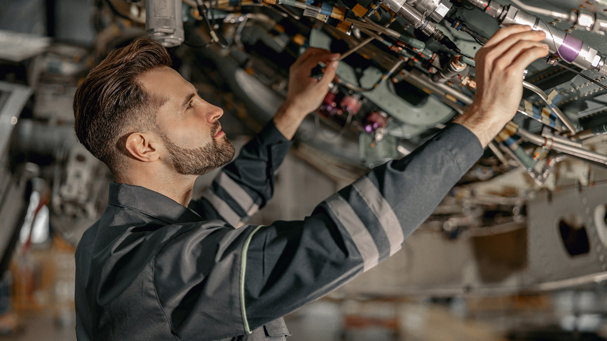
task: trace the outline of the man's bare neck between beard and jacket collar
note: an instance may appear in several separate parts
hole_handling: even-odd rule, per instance
[[[188,207],[190,200],[192,200],[192,189],[194,188],[196,176],[181,174],[160,175],[158,173],[162,172],[125,174],[120,179],[117,179],[116,182],[146,187]]]

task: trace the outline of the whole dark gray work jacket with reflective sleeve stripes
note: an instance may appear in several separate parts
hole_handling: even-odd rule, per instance
[[[111,183],[76,249],[77,339],[284,339],[282,316],[398,251],[483,153],[450,124],[304,220],[246,225],[270,200],[289,147],[270,122],[189,208]]]

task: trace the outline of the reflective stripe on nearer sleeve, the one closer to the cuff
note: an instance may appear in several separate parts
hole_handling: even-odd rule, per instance
[[[367,177],[356,180],[352,186],[356,189],[362,200],[367,203],[375,217],[378,218],[385,235],[390,242],[390,255],[401,249],[402,242],[405,240],[402,234],[401,223],[398,221],[392,206],[385,200],[379,189]]]

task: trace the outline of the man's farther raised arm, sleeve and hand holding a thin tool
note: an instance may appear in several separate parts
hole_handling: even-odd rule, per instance
[[[239,228],[265,206],[274,193],[274,175],[291,147],[297,127],[327,94],[337,67],[337,62],[331,62],[338,57],[338,53],[310,48],[297,58],[290,68],[285,103],[238,157],[223,167],[202,198],[190,203],[191,209],[206,220],[220,219]],[[323,78],[310,77],[319,62],[327,65]]]

